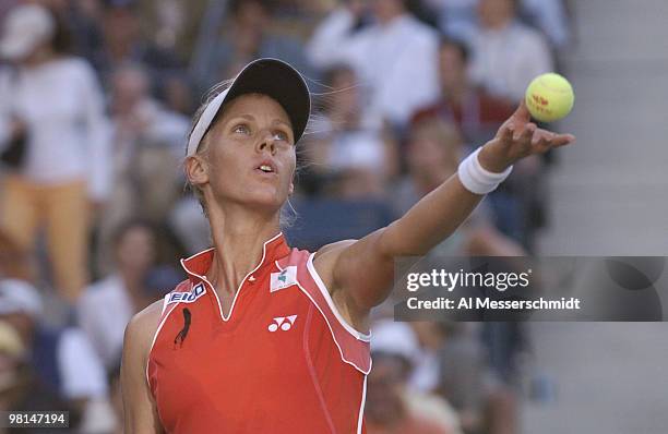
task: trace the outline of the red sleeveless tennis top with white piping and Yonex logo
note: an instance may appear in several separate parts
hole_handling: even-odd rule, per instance
[[[205,274],[214,251],[181,264],[165,297],[146,376],[167,433],[365,433],[369,337],[338,314],[313,254],[278,234],[229,317]]]

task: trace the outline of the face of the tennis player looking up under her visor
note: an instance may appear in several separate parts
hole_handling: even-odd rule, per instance
[[[217,203],[239,203],[276,212],[293,191],[296,153],[290,120],[265,95],[229,103],[207,134],[206,194]]]

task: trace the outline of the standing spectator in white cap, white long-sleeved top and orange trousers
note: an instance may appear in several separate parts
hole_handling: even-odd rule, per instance
[[[91,210],[107,197],[109,126],[95,74],[68,55],[64,28],[32,4],[7,17],[0,56],[0,149],[23,143],[23,161],[4,180],[0,227],[32,250],[45,228],[56,288],[71,303],[87,280]]]

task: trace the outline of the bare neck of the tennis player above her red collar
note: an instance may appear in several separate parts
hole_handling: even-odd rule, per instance
[[[243,277],[262,260],[264,243],[281,232],[278,215],[236,204],[208,209],[215,254],[206,278],[216,291],[237,291]]]

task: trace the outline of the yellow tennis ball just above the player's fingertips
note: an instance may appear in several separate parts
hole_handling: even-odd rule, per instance
[[[565,118],[574,101],[573,86],[559,74],[538,75],[526,88],[526,107],[541,122]]]

